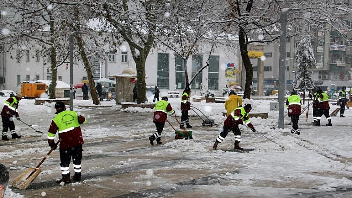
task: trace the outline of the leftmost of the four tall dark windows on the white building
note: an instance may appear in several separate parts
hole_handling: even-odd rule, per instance
[[[158,53],[157,86],[169,90],[169,54]]]

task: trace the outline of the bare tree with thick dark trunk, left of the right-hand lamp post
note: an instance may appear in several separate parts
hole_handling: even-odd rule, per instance
[[[253,79],[253,68],[248,56],[247,47],[251,43],[277,42],[280,38],[280,13],[282,8],[296,8],[299,11],[288,12],[287,37],[308,35],[315,39],[315,30],[330,31],[347,28],[344,19],[338,14],[351,14],[352,9],[344,0],[225,0],[229,12],[222,21],[227,23],[225,32],[237,34],[241,57],[246,70],[244,98],[250,98]],[[258,37],[258,35],[262,35]],[[259,39],[263,38],[263,39]],[[283,84],[284,82],[280,82]]]

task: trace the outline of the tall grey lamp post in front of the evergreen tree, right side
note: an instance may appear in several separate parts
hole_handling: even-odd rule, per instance
[[[280,32],[280,61],[279,61],[279,92],[278,92],[278,102],[279,102],[279,118],[278,127],[281,129],[285,128],[284,114],[285,114],[285,95],[286,95],[286,81],[285,81],[285,71],[286,71],[286,27],[287,27],[287,13],[289,11],[299,11],[301,9],[297,8],[283,8],[280,14],[281,32]]]

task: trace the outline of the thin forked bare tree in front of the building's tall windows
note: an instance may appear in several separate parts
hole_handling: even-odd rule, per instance
[[[218,0],[178,0],[170,2],[166,8],[165,17],[158,21],[155,37],[163,46],[173,50],[176,57],[183,59],[181,66],[187,88],[209,66],[210,55],[223,28],[222,24],[214,23],[219,16],[216,13],[223,13],[224,7]],[[189,80],[188,59],[204,53],[209,55],[207,64],[193,71]]]

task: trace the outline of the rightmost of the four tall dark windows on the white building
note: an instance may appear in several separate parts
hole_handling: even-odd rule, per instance
[[[210,56],[208,66],[208,88],[219,90],[219,56]]]

